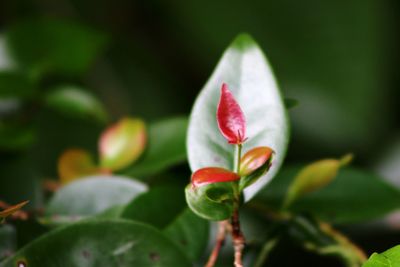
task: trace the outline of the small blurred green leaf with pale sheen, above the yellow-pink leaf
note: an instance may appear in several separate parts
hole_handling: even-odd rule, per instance
[[[105,122],[108,114],[103,104],[90,92],[74,85],[59,86],[44,98],[45,104],[62,114]]]

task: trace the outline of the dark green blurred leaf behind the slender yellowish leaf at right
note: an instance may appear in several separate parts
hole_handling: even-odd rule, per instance
[[[300,167],[283,169],[256,198],[259,204],[279,209]],[[355,223],[379,218],[400,206],[400,191],[365,170],[345,168],[329,185],[291,206],[333,223]]]

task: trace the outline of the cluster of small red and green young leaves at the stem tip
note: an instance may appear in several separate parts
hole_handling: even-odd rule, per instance
[[[218,166],[199,169],[192,174],[185,192],[188,205],[197,215],[222,221],[232,216],[243,189],[269,170],[274,151],[267,146],[255,147],[241,157],[240,151],[247,140],[246,120],[226,84],[221,88],[217,123],[228,143],[237,146],[235,170]]]

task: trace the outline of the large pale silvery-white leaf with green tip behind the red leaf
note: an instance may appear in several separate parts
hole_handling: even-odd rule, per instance
[[[267,174],[244,190],[250,199],[280,168],[288,144],[286,108],[271,68],[255,41],[237,37],[225,51],[210,80],[198,96],[189,121],[187,151],[192,171],[216,166],[232,169],[233,146],[218,131],[216,109],[222,83],[227,83],[247,121],[244,151],[269,146],[276,156]]]

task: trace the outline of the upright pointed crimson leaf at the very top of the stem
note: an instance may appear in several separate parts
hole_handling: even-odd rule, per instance
[[[242,144],[246,140],[246,120],[227,84],[222,84],[217,108],[217,122],[221,134],[230,144]]]

